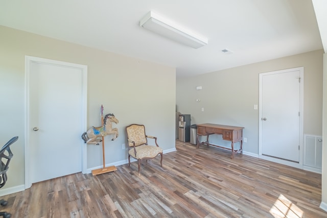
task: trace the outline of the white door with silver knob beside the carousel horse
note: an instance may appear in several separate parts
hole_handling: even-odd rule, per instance
[[[37,60],[28,66],[31,183],[81,172],[86,129],[86,66]]]

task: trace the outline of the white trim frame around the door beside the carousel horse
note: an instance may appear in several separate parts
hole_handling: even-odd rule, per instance
[[[31,182],[31,153],[30,153],[30,133],[32,131],[30,114],[30,65],[31,63],[53,64],[64,67],[77,68],[82,71],[82,127],[87,128],[87,65],[75,64],[33,56],[25,56],[25,189],[32,186]],[[87,148],[81,140],[81,169],[82,173],[87,173]]]

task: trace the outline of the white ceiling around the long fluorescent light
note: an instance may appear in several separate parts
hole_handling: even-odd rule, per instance
[[[150,10],[208,44],[139,27]],[[0,0],[0,25],[173,66],[178,77],[323,49],[311,0]]]

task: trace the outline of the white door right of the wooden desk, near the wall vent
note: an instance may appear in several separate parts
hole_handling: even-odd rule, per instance
[[[299,163],[303,68],[260,75],[261,155]]]

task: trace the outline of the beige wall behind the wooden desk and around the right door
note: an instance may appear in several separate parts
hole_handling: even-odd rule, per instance
[[[303,132],[322,135],[322,54],[319,50],[196,77],[177,78],[177,110],[191,114],[192,124],[245,127],[247,143],[244,143],[244,151],[258,154],[259,110],[254,110],[253,105],[259,105],[259,74],[303,66]],[[196,90],[196,86],[202,86],[202,90]],[[202,107],[204,112],[201,112]],[[212,138],[213,142],[230,146],[230,142],[220,140],[219,136]]]

